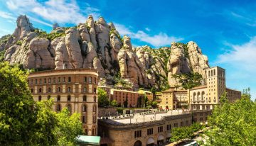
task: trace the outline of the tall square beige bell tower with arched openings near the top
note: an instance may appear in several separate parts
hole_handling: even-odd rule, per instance
[[[208,95],[206,102],[216,104],[220,101],[220,96],[225,92],[225,69],[221,67],[210,67],[206,69]]]

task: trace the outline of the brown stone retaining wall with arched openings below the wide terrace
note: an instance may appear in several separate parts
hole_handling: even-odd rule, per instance
[[[108,126],[103,126],[105,128],[105,133],[107,133],[107,137],[114,141],[112,146],[119,146],[119,145],[134,145],[137,140],[142,142],[142,145],[146,145],[147,140],[149,138],[154,139],[154,143],[157,144],[157,140],[159,139],[160,135],[164,137],[164,142],[166,139],[169,140],[171,135],[171,129],[167,130],[167,125],[171,125],[171,128],[174,127],[181,127],[181,126],[188,126],[191,125],[191,116],[186,118],[178,118],[175,120],[165,120],[159,121],[158,123],[152,123],[151,125],[138,125],[136,128],[125,128],[125,129],[113,129]],[[158,131],[158,128],[162,127],[163,131]],[[102,128],[102,125],[99,125],[99,128]],[[147,134],[147,130],[149,128],[153,128],[153,133],[151,135]],[[142,137],[134,137],[134,132],[142,130]],[[101,134],[101,133],[100,133]]]

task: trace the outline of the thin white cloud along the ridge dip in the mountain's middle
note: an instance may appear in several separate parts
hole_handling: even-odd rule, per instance
[[[161,32],[157,35],[149,35],[142,30],[138,30],[137,33],[133,33],[132,30],[119,23],[114,23],[114,26],[117,28],[120,35],[129,35],[133,39],[149,43],[154,47],[171,45],[171,42],[178,42],[183,40],[183,38],[176,38]]]

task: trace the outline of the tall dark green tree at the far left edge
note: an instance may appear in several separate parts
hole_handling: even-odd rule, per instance
[[[33,145],[36,109],[26,74],[0,62],[0,144]]]

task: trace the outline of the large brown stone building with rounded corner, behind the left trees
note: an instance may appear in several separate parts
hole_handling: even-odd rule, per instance
[[[35,101],[51,98],[54,111],[80,113],[87,135],[97,135],[97,79],[95,69],[48,70],[29,74],[28,86]]]

